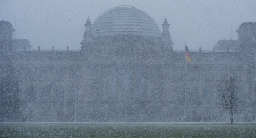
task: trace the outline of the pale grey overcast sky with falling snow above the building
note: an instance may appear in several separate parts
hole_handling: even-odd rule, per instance
[[[84,23],[118,5],[146,12],[162,32],[167,18],[174,49],[211,50],[220,39],[232,38],[243,22],[256,22],[256,0],[0,0],[0,20],[9,21],[16,39],[28,39],[31,49],[80,49]]]

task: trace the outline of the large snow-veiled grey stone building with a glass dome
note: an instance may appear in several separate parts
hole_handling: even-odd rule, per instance
[[[230,75],[247,101],[234,121],[240,114],[252,118],[256,41],[242,41],[248,24],[237,30],[236,50],[190,51],[192,63],[185,62],[185,51],[173,50],[167,19],[161,33],[149,15],[127,6],[106,11],[94,24],[88,18],[79,51],[9,50],[26,103],[23,116],[53,122],[178,121],[181,116],[222,121],[226,111],[217,104],[216,86]],[[3,50],[7,46],[1,44]]]

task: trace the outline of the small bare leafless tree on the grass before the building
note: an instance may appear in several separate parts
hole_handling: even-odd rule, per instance
[[[235,77],[229,76],[229,78],[220,82],[217,87],[217,98],[219,99],[219,104],[229,111],[229,118],[231,124],[233,124],[233,113],[241,102],[238,93],[238,83]]]

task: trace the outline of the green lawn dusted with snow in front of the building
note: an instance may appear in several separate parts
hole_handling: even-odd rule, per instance
[[[0,123],[0,137],[256,137],[256,123],[83,122]]]

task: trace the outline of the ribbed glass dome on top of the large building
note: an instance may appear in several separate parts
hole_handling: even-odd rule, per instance
[[[161,31],[155,21],[135,7],[115,7],[103,13],[94,22],[93,36],[141,35],[160,37]]]

